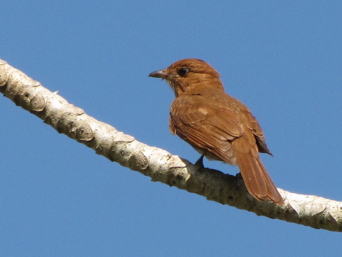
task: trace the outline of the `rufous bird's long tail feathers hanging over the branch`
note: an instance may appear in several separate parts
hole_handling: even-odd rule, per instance
[[[262,164],[257,149],[250,148],[249,153],[235,150],[234,154],[248,192],[260,201],[269,199],[277,205],[284,205],[284,200]]]

